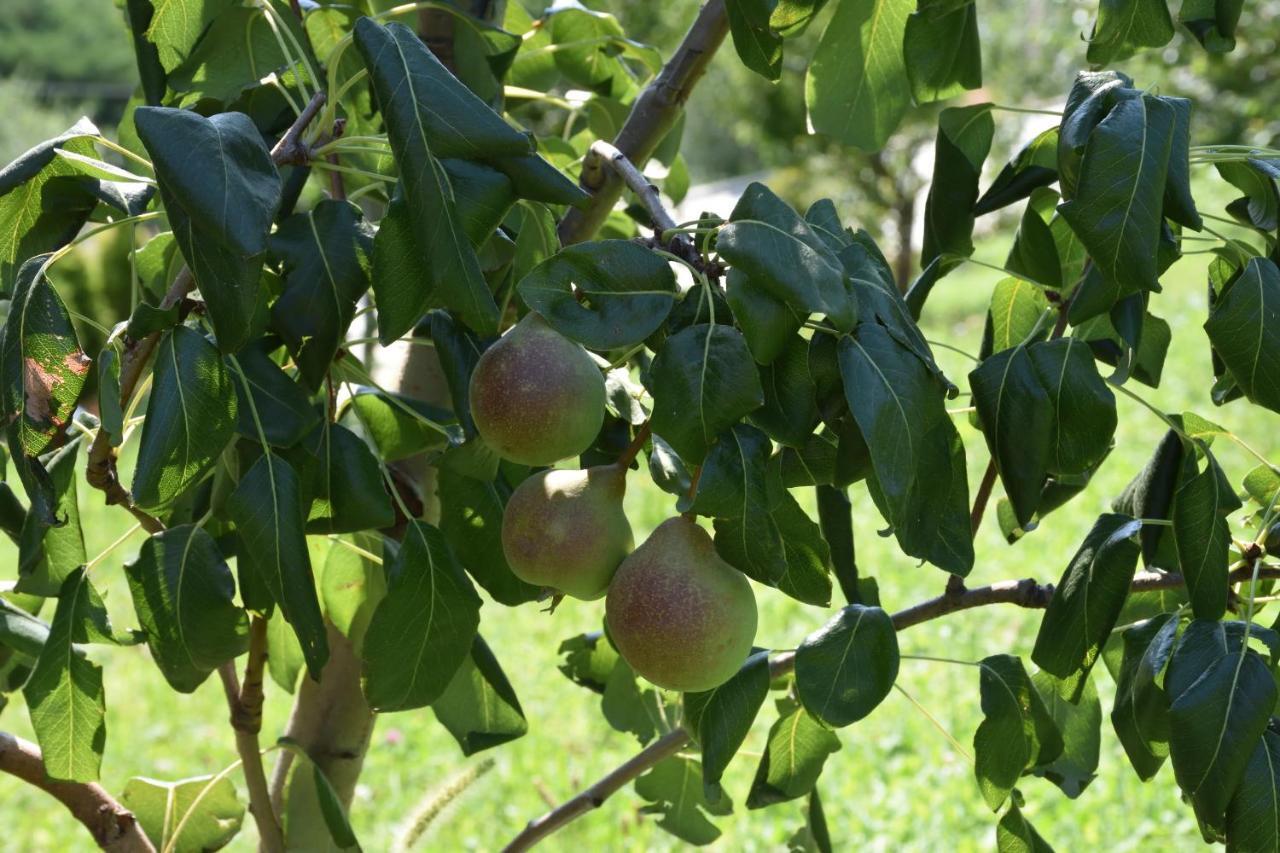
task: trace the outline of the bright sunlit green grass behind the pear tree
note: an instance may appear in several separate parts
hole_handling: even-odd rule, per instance
[[[1004,241],[1001,241],[1004,245]],[[987,252],[988,260],[997,260]],[[1157,314],[1172,327],[1174,345],[1162,387],[1134,388],[1165,410],[1196,410],[1235,429],[1263,453],[1280,451],[1280,432],[1271,412],[1235,403],[1215,411],[1208,400],[1212,382],[1207,341],[1201,329],[1206,314],[1203,256],[1184,259],[1166,277],[1165,295],[1153,301]],[[996,273],[966,266],[943,280],[925,311],[931,338],[977,351],[982,313]],[[952,379],[965,387],[970,364],[963,356],[938,351]],[[964,405],[960,400],[954,405]],[[1120,397],[1116,450],[1089,489],[1015,546],[1005,544],[992,512],[978,537],[978,562],[972,584],[1034,576],[1056,580],[1093,519],[1108,507],[1130,476],[1146,462],[1164,433],[1162,424],[1133,401]],[[969,451],[970,483],[987,464],[982,437],[959,418]],[[1220,457],[1239,483],[1252,460],[1234,446],[1221,446]],[[627,496],[637,538],[672,514],[673,500],[659,493],[643,474],[632,474]],[[997,496],[998,496],[997,487]],[[861,571],[881,584],[884,606],[896,610],[941,592],[945,576],[897,552],[867,498],[852,489],[858,558]],[[81,484],[81,505],[90,553],[111,543],[128,516],[109,510]],[[108,596],[118,625],[133,625],[122,561],[137,551],[132,538],[93,570],[95,583]],[[12,575],[15,551],[0,543],[0,566]],[[3,576],[3,575],[0,575]],[[758,643],[791,648],[823,624],[829,611],[797,605],[760,588]],[[838,602],[837,602],[838,605]],[[600,626],[599,602],[568,601],[554,615],[535,605],[504,608],[488,602],[483,630],[503,662],[529,717],[527,736],[492,751],[493,772],[484,776],[431,827],[424,849],[495,849],[529,818],[603,775],[637,744],[612,731],[599,713],[599,697],[567,681],[556,669],[561,639]],[[957,613],[911,629],[901,637],[902,652],[974,661],[996,652],[1028,656],[1038,613],[992,607]],[[108,742],[104,785],[119,793],[133,775],[178,779],[211,774],[234,758],[227,710],[216,679],[192,695],[170,692],[148,660],[145,647],[95,649],[106,667]],[[1128,766],[1106,713],[1114,685],[1100,667],[1103,702],[1103,745],[1098,779],[1079,800],[1068,800],[1039,779],[1021,785],[1027,816],[1059,849],[1139,848],[1194,849],[1201,845],[1190,811],[1179,800],[1166,766],[1155,781],[1142,784]],[[977,670],[923,661],[904,661],[899,684],[918,699],[965,751],[980,719]],[[269,698],[264,742],[280,731],[289,697],[274,684]],[[735,813],[719,821],[724,850],[783,849],[801,825],[801,804],[790,803],[748,812],[742,806],[759,751],[774,715],[762,711],[742,752],[726,775]],[[0,727],[31,738],[20,697],[0,712]],[[849,849],[989,849],[995,818],[983,804],[966,756],[959,753],[920,711],[893,692],[867,720],[841,733],[844,748],[827,763],[819,783],[828,822],[838,847]],[[403,816],[424,795],[476,757],[463,760],[457,745],[430,711],[387,715],[378,721],[374,745],[356,794],[352,821],[365,849],[387,849]],[[238,781],[238,780],[237,780]],[[243,790],[243,786],[241,785]],[[13,779],[0,777],[0,815],[10,831],[4,849],[92,849],[86,834],[45,794]],[[564,850],[671,849],[678,843],[639,813],[641,803],[630,790],[608,800],[598,812],[572,824],[548,845]],[[247,850],[255,833],[246,820],[232,849]]]

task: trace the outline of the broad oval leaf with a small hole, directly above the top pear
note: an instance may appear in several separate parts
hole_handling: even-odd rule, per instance
[[[671,264],[628,240],[562,248],[517,287],[525,304],[588,350],[630,347],[653,334],[676,304]]]

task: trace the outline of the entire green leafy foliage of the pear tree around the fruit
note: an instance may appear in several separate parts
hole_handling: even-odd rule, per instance
[[[777,40],[819,5],[730,3],[748,64],[773,73]],[[1129,31],[1106,36],[1115,8],[1129,5],[1100,12],[1093,44],[1107,59],[1149,44]],[[1187,4],[1184,19],[1199,5]],[[966,448],[947,409],[961,389],[918,325],[927,298],[972,254],[977,216],[1025,202],[968,377],[973,423],[1005,491],[998,516],[1016,540],[1105,462],[1112,387],[1132,394],[1130,379],[1160,382],[1170,336],[1149,301],[1183,231],[1204,228],[1189,174],[1208,155],[1190,145],[1190,104],[1119,73],[1084,73],[1061,122],[982,193],[996,106],[945,110],[924,272],[905,295],[874,241],[846,228],[829,201],[801,214],[762,184],[728,219],[707,215],[687,229],[698,260],[684,261],[691,284],[681,286],[672,255],[627,240],[637,223],[623,211],[605,240],[561,248],[556,234],[564,210],[585,200],[564,173],[594,138],[613,136],[658,69],[654,51],[608,15],[567,5],[535,22],[511,4],[504,28],[456,15],[449,70],[411,29],[361,14],[370,12],[320,5],[300,22],[269,0],[131,0],[143,86],[123,145],[78,124],[0,172],[9,300],[0,461],[26,494],[24,505],[0,485],[0,528],[19,549],[17,583],[0,598],[0,688],[23,689],[50,775],[86,781],[99,775],[106,736],[93,644],[145,642],[166,681],[191,692],[241,656],[252,621],[265,620],[270,674],[293,690],[302,669],[323,671],[329,622],[360,656],[376,711],[431,707],[465,754],[518,738],[526,722],[480,634],[476,585],[506,606],[540,594],[512,574],[497,535],[530,470],[485,447],[467,394],[479,356],[534,310],[596,353],[607,375],[608,416],[584,465],[616,460],[648,421],[648,474],[676,510],[712,520],[728,564],[808,605],[829,606],[837,584],[849,602],[799,644],[794,672],[762,652],[726,685],[681,699],[637,681],[605,638],[588,635],[566,643],[566,674],[600,692],[607,721],[643,743],[681,720],[696,736],[700,760],[667,758],[636,784],[659,825],[692,843],[718,835],[709,816],[731,808],[719,779],[776,690],[778,716],[746,804],[806,797],[801,835],[823,847],[817,781],[840,748],[835,729],[870,713],[899,665],[895,620],[854,560],[847,488],[865,483],[904,555],[955,578],[975,558]],[[837,136],[876,147],[909,96],[975,85],[973,4],[908,12],[901,0],[838,5],[810,67],[819,131],[838,117]],[[878,27],[879,15],[901,26]],[[1216,19],[1222,38],[1229,17]],[[943,36],[963,36],[960,47],[931,41]],[[933,64],[943,56],[955,61]],[[573,102],[554,93],[579,88],[586,95]],[[321,90],[329,100],[314,124],[300,122],[273,149]],[[571,120],[534,140],[507,120],[536,124],[564,106],[586,117],[584,128]],[[854,128],[872,136],[846,137]],[[684,183],[678,138],[677,124],[655,155],[672,196]],[[102,160],[100,147],[132,165]],[[1245,193],[1226,213],[1261,250],[1215,248],[1212,400],[1280,411],[1280,170],[1266,156],[1215,161]],[[339,175],[349,196],[323,197],[321,172]],[[168,228],[145,225],[134,252],[136,309],[91,360],[51,278],[56,261],[87,223],[161,219]],[[198,298],[174,292],[184,280]],[[429,339],[448,406],[374,382],[347,337],[361,304],[372,306],[381,343]],[[1114,368],[1108,377],[1100,362]],[[93,365],[96,420],[78,409]],[[1019,811],[1024,775],[1070,797],[1092,779],[1100,657],[1117,680],[1112,722],[1138,774],[1151,777],[1170,757],[1206,839],[1277,843],[1260,833],[1277,825],[1280,640],[1252,622],[1256,584],[1236,617],[1234,584],[1262,566],[1280,469],[1263,461],[1245,476],[1243,521],[1258,535],[1236,543],[1229,516],[1244,501],[1212,452],[1216,438],[1234,437],[1190,412],[1162,418],[1170,432],[1152,462],[1056,585],[1032,654],[1039,671],[1010,654],[978,662],[975,776],[987,804],[1004,809],[1001,849],[1044,847]],[[124,491],[114,456],[140,426]],[[109,624],[92,583],[101,558],[88,558],[79,528],[82,447],[91,483],[115,484],[113,500],[150,525],[125,569],[134,631]],[[415,517],[417,496],[388,467],[420,453],[438,467],[438,524]],[[818,523],[794,494],[809,488]],[[1134,592],[1139,557],[1149,585],[1180,579],[1185,596]],[[136,780],[125,798],[155,838],[177,834],[166,816],[198,799],[192,831],[224,834],[183,844],[225,843],[241,815],[233,792],[200,783],[212,793],[197,798],[195,784]],[[340,808],[330,830],[347,844]]]

